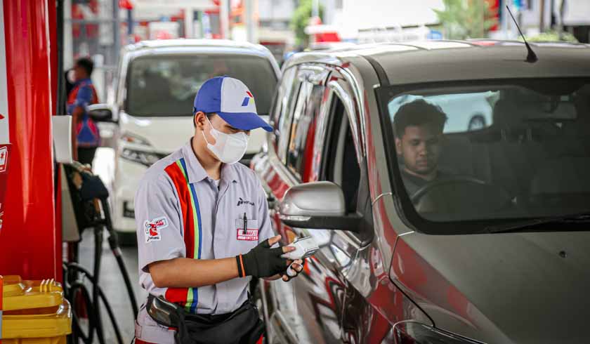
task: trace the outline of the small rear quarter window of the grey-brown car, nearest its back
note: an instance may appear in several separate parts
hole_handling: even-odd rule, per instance
[[[299,84],[301,84],[301,81],[295,77],[296,72],[297,67],[291,67],[288,70],[285,70],[279,87],[277,88],[273,123],[275,126],[275,150],[277,150],[279,157],[284,156],[284,150],[280,150],[279,148],[281,146],[280,141],[282,133],[289,133],[288,129],[287,131],[283,131],[285,121],[287,117],[289,117],[289,112],[294,104],[297,92],[299,91]],[[288,122],[290,124],[290,120]],[[287,139],[284,139],[283,141],[285,140]],[[282,146],[284,147],[284,144]]]

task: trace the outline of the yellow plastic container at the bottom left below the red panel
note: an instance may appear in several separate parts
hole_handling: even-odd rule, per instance
[[[53,279],[25,281],[4,276],[0,291],[1,344],[65,344],[72,333],[70,303]]]

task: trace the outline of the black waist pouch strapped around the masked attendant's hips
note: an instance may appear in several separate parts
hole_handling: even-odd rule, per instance
[[[178,329],[176,341],[182,344],[256,344],[264,333],[258,310],[249,300],[234,312],[223,315],[195,315],[180,306],[176,306],[174,312],[176,324],[164,324],[154,316],[152,319]]]

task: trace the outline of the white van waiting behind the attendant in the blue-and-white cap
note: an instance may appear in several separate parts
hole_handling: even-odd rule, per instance
[[[195,94],[204,81],[221,75],[244,81],[256,98],[258,114],[268,120],[280,69],[263,46],[176,39],[143,41],[123,49],[114,103],[93,105],[91,110],[112,114],[103,121],[115,124],[111,204],[114,228],[123,242],[135,240],[133,197],[138,181],[151,164],[189,140],[194,133]],[[253,131],[242,162],[248,164],[264,140],[264,131]]]

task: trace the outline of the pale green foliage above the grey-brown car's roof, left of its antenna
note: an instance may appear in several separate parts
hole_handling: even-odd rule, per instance
[[[445,9],[433,10],[446,39],[483,38],[497,24],[490,0],[442,0]]]

